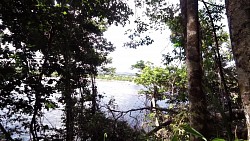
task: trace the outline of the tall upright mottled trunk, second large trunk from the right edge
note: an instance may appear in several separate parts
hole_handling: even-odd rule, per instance
[[[186,63],[188,72],[188,97],[190,125],[201,134],[206,132],[206,97],[202,91],[202,68],[199,43],[198,0],[187,0]],[[191,141],[199,141],[191,136]]]

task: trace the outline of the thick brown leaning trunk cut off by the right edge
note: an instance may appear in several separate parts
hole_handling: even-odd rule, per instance
[[[250,0],[226,0],[229,31],[250,140]]]

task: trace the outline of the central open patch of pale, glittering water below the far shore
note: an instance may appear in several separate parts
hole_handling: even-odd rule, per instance
[[[142,89],[142,86],[138,86],[133,82],[128,81],[97,81],[97,89],[99,94],[102,94],[101,105],[107,107],[107,104],[111,99],[114,99],[114,107],[116,111],[128,111],[131,109],[138,109],[145,107],[146,98],[144,95],[140,95],[138,92]],[[105,110],[105,109],[104,109]],[[106,109],[106,111],[109,111]],[[116,114],[119,114],[117,112]],[[128,121],[131,126],[140,126],[144,111],[128,112],[121,119]],[[110,114],[112,115],[112,114]],[[118,117],[119,115],[116,115]]]

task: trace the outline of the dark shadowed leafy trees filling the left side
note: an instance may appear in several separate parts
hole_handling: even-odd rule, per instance
[[[48,127],[38,122],[42,109],[65,104],[65,139],[74,140],[78,135],[76,118],[83,113],[93,118],[98,110],[96,67],[114,49],[102,33],[112,23],[125,24],[130,9],[120,0],[3,0],[0,9],[1,109],[9,110],[8,117],[31,115],[20,125],[29,128],[32,140],[38,140],[46,135],[37,132]],[[37,53],[41,54],[39,59]],[[58,79],[50,77],[54,72]],[[88,77],[93,78],[92,82]],[[50,100],[56,92],[62,94],[60,99]],[[86,101],[92,102],[91,110],[75,112],[78,104]]]

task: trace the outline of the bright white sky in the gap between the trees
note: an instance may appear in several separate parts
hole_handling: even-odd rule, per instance
[[[130,2],[129,5],[132,9],[135,9],[133,2]],[[150,30],[147,32],[147,35],[154,40],[153,44],[149,46],[140,46],[137,49],[123,47],[123,44],[129,41],[125,31],[136,27],[133,21],[137,16],[141,15],[139,10],[137,8],[137,14],[130,17],[130,24],[126,24],[125,27],[112,25],[104,33],[104,37],[116,47],[115,51],[109,55],[113,59],[112,64],[108,66],[115,67],[117,73],[134,72],[134,70],[131,70],[131,65],[139,60],[150,61],[156,66],[160,66],[163,59],[162,54],[172,50],[169,41],[170,31],[167,29],[164,31]]]

